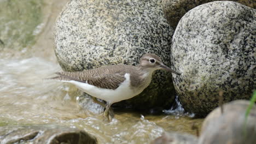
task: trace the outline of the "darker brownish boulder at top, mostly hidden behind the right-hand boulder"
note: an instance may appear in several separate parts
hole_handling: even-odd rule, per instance
[[[198,5],[213,2],[215,0],[162,0],[162,8],[164,10],[164,14],[170,26],[172,28],[176,28],[179,20],[181,20],[182,16],[185,15],[190,9],[195,8]],[[223,1],[223,0],[219,0]],[[247,5],[251,8],[256,8],[255,0],[232,0],[234,2],[238,2],[244,5]]]

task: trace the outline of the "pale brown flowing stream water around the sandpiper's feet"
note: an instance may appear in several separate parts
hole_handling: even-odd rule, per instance
[[[193,119],[179,109],[166,110],[166,115],[115,112],[112,122],[102,115],[81,109],[81,92],[72,85],[45,80],[61,71],[53,51],[52,27],[66,1],[47,3],[36,44],[22,49],[0,49],[0,126],[58,124],[79,128],[97,137],[99,143],[149,143],[164,131],[196,134],[203,119]],[[49,12],[50,11],[50,12]],[[51,43],[49,43],[49,41]],[[8,42],[9,43],[9,42]],[[95,109],[98,109],[97,106]],[[100,108],[99,108],[100,109]]]

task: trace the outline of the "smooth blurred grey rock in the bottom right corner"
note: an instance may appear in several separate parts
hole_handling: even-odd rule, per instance
[[[256,142],[256,105],[248,115],[245,125],[245,113],[249,101],[236,100],[213,110],[202,125],[199,144],[203,143],[247,143]]]

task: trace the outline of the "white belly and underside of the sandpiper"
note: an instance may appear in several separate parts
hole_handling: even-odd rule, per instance
[[[64,81],[73,83],[81,91],[88,93],[92,97],[102,99],[108,103],[116,103],[121,100],[130,99],[135,97],[137,94],[141,93],[143,89],[135,91],[130,87],[130,74],[125,74],[126,80],[121,83],[117,89],[106,89],[98,88],[96,86],[89,85],[88,83],[78,82],[78,81]]]

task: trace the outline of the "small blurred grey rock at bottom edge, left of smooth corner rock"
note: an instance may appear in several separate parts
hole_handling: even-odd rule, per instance
[[[197,137],[190,134],[168,132],[152,141],[152,144],[196,144]]]

